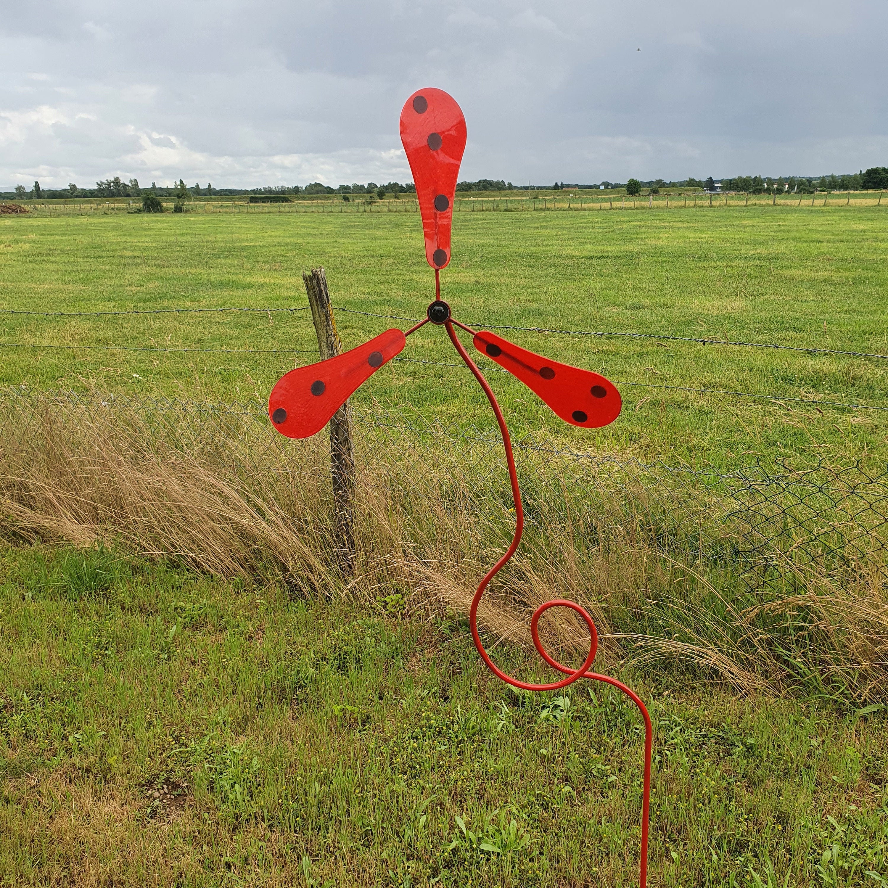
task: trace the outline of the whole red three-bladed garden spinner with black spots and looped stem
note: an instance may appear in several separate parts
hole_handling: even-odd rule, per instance
[[[496,564],[481,580],[472,599],[469,621],[472,638],[481,658],[488,668],[504,682],[526,691],[555,691],[567,687],[579,678],[589,678],[612,685],[630,697],[638,706],[645,721],[645,776],[641,811],[641,857],[640,885],[645,888],[647,876],[647,833],[648,809],[651,792],[651,746],[653,728],[645,704],[638,694],[629,687],[606,675],[591,671],[592,662],[598,650],[598,631],[587,611],[574,601],[553,599],[537,607],[530,620],[530,634],[536,651],[552,669],[558,670],[567,678],[548,684],[528,684],[512,678],[500,670],[490,658],[481,642],[478,631],[478,606],[490,581],[511,559],[521,540],[524,527],[524,511],[521,507],[521,491],[515,471],[515,458],[512,453],[509,430],[506,427],[503,411],[496,402],[494,392],[487,379],[481,374],[459,337],[456,327],[472,335],[475,348],[503,369],[527,385],[566,423],[585,429],[596,429],[612,423],[620,415],[622,400],[614,384],[605,377],[571,367],[568,364],[551,361],[542,355],[528,352],[502,337],[481,330],[476,333],[465,324],[456,321],[450,306],[440,298],[440,271],[450,262],[450,227],[453,222],[453,201],[456,194],[456,178],[459,164],[465,149],[465,118],[456,101],[442,90],[426,89],[416,91],[405,103],[400,113],[400,139],[407,152],[410,170],[416,183],[416,197],[423,219],[425,238],[425,258],[435,272],[435,299],[428,306],[424,321],[411,327],[407,332],[400,329],[386,330],[369,342],[353,348],[350,352],[337,355],[308,367],[290,370],[281,377],[268,399],[268,415],[274,427],[289,438],[308,438],[327,424],[345,400],[380,367],[400,354],[406,344],[406,337],[431,322],[443,327],[450,341],[472,375],[478,380],[488,396],[490,406],[496,415],[500,432],[503,435],[506,463],[509,467],[511,493],[515,503],[515,534],[511,545]],[[589,629],[589,654],[579,669],[570,669],[559,663],[545,650],[540,641],[538,625],[540,617],[550,607],[568,607],[583,619]]]

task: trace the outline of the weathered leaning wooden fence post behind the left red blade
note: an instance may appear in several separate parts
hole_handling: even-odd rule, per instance
[[[333,306],[323,268],[314,268],[302,275],[312,320],[318,334],[321,361],[335,358],[342,343],[333,318]],[[354,444],[352,440],[352,409],[345,401],[330,420],[330,472],[333,476],[333,502],[337,524],[337,567],[343,576],[354,573]]]

